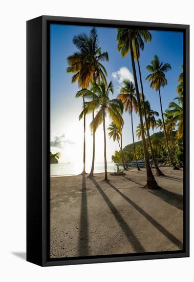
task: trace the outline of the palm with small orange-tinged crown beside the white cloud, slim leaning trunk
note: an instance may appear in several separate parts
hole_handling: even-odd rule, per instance
[[[133,82],[131,82],[129,79],[123,80],[123,87],[121,87],[120,94],[117,96],[117,98],[122,101],[125,112],[128,111],[128,113],[131,114],[134,156],[135,156],[135,161],[136,161],[136,167],[138,170],[140,170],[138,163],[137,163],[136,147],[135,147],[135,140],[134,140],[133,109],[137,113],[138,103],[136,99],[135,87],[134,87]]]

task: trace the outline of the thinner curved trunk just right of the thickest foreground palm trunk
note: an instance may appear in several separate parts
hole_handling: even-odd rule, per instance
[[[136,46],[136,54],[137,54],[137,46]],[[146,131],[147,131],[147,139],[148,139],[148,142],[149,142],[149,148],[150,148],[150,152],[151,152],[151,155],[152,155],[153,163],[154,163],[155,168],[156,168],[156,175],[164,175],[164,173],[161,172],[161,170],[159,169],[159,167],[157,165],[155,155],[154,155],[154,151],[153,151],[153,148],[152,148],[152,142],[150,140],[149,128],[148,128],[148,123],[147,123],[147,114],[146,114],[146,109],[145,109],[145,98],[144,98],[144,93],[143,93],[143,84],[142,84],[142,79],[141,79],[141,69],[140,69],[140,65],[139,65],[138,56],[137,56],[137,63],[138,63],[138,69],[139,69],[141,92],[142,92],[142,97],[143,97],[143,110],[144,110],[145,126],[146,126]]]

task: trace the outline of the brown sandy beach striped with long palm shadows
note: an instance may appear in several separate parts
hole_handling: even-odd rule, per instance
[[[161,170],[160,190],[142,188],[144,169],[51,177],[50,257],[182,250],[183,170]]]

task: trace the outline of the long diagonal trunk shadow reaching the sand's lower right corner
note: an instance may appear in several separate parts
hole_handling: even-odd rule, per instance
[[[146,213],[142,208],[140,208],[136,203],[133,202],[130,198],[125,196],[122,192],[120,192],[114,185],[107,182],[109,186],[111,186],[115,191],[119,193],[130,205],[132,205],[138,212],[140,212],[152,225],[154,225],[165,237],[167,237],[172,243],[174,243],[181,250],[183,249],[182,242],[177,239],[173,234],[171,234],[168,230],[166,230],[162,225],[160,225],[152,216]]]

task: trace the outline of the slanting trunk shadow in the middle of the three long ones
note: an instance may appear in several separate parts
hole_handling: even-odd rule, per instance
[[[99,184],[94,179],[94,177],[90,177],[90,179],[92,180],[92,182],[94,183],[94,185],[96,186],[98,191],[100,192],[100,194],[103,197],[103,199],[105,200],[107,206],[109,206],[109,208],[112,211],[115,219],[118,221],[120,227],[122,228],[123,232],[125,233],[128,241],[130,241],[130,243],[132,244],[134,250],[138,253],[145,252],[145,250],[144,250],[143,246],[141,245],[140,241],[138,240],[138,238],[135,236],[135,234],[133,233],[131,228],[127,225],[127,223],[125,222],[125,220],[123,219],[123,217],[121,216],[119,211],[115,208],[115,206],[113,205],[113,203],[111,202],[109,197],[107,197],[107,195],[104,193],[104,191],[99,186]]]

